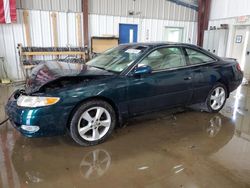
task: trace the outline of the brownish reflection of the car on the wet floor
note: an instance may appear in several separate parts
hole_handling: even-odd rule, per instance
[[[191,114],[182,120],[186,113],[192,114],[197,125],[190,124],[193,121],[188,120]],[[147,125],[144,120],[139,120],[136,125],[118,129],[116,138],[97,148],[77,147],[68,137],[45,140],[20,137],[13,150],[12,161],[21,182],[42,186],[53,184],[53,187],[59,187],[58,181],[64,180],[67,182],[64,187],[95,185],[96,182],[109,187],[111,182],[105,183],[106,180],[114,178],[117,186],[126,187],[139,179],[143,184],[171,180],[174,174],[180,173],[187,181],[189,174],[206,169],[203,159],[197,162],[194,153],[213,154],[232,138],[234,129],[221,115],[205,114],[206,118],[200,119],[200,112],[186,113],[177,115],[176,120],[148,119]],[[168,126],[171,122],[176,125]],[[180,125],[181,122],[186,125]],[[223,122],[225,126],[222,126]],[[150,138],[151,131],[157,136]],[[140,171],[154,176],[146,178]],[[207,171],[212,173],[212,169]],[[193,181],[199,185],[201,180]],[[177,184],[178,181],[174,181],[167,185]]]

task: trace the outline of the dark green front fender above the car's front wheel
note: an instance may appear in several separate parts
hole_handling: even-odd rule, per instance
[[[118,111],[119,117],[128,115],[127,80],[125,78],[109,80],[105,83],[78,85],[71,89],[61,90],[57,95],[60,96],[62,105],[70,107],[72,111],[86,100],[99,98],[110,103]]]

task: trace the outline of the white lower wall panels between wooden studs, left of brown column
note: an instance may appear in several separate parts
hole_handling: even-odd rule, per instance
[[[26,46],[23,10],[18,10],[16,24],[0,25],[0,57],[5,58],[8,76],[13,80],[23,79],[17,44]],[[53,46],[52,20],[50,11],[30,10],[30,33],[32,46]],[[78,13],[53,12],[57,14],[59,46],[77,46],[76,17]],[[82,14],[80,14],[82,17]],[[82,18],[81,18],[82,20]],[[81,22],[82,23],[82,22]],[[81,26],[82,28],[82,26]],[[83,33],[82,33],[83,34]],[[83,38],[83,36],[82,36]],[[34,59],[52,59],[53,57],[36,57]],[[0,75],[1,77],[2,75]]]

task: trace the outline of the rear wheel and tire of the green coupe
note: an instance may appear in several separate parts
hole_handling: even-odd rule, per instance
[[[204,104],[205,111],[210,113],[218,113],[225,105],[227,100],[227,88],[221,83],[217,83],[208,93]]]

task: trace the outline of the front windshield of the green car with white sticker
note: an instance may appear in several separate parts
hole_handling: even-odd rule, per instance
[[[118,46],[95,57],[86,64],[91,67],[120,73],[131,65],[145,50],[145,46]]]

